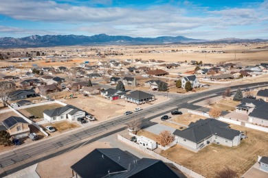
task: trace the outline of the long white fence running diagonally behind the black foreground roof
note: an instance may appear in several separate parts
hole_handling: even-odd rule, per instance
[[[162,160],[163,162],[166,162],[166,163],[170,163],[172,164],[173,166],[175,166],[176,168],[178,168],[179,170],[181,170],[181,172],[183,173],[186,173],[187,175],[190,175],[191,177],[194,177],[194,178],[203,178],[202,175],[199,175],[197,173],[195,173],[193,170],[190,170],[184,166],[181,166],[175,162],[172,162],[171,160],[168,160],[168,158],[166,157],[163,157],[157,153],[155,153],[154,151],[150,151],[142,146],[140,146],[139,144],[136,144],[135,142],[131,142],[131,140],[128,140],[120,135],[118,135],[118,140],[121,140],[122,142],[125,142],[126,144],[129,144],[131,145],[132,147],[135,147],[136,149],[139,149],[140,151],[143,151],[144,153],[148,154],[148,155],[151,155],[153,157],[155,157],[156,159],[158,160]]]

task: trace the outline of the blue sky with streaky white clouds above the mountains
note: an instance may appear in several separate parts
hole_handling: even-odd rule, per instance
[[[0,0],[0,37],[268,39],[268,0]]]

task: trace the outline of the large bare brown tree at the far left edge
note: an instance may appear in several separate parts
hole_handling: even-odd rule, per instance
[[[8,105],[8,100],[14,90],[16,90],[16,84],[10,81],[2,81],[0,83],[0,99],[3,102],[4,107]]]

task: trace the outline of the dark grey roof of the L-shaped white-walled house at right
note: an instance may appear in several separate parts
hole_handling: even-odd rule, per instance
[[[183,131],[175,130],[173,134],[195,143],[199,143],[212,135],[217,135],[227,140],[233,140],[235,136],[240,134],[240,131],[230,129],[227,126],[229,126],[229,124],[214,118],[206,118],[205,120],[197,120],[196,123],[190,123],[189,127]]]

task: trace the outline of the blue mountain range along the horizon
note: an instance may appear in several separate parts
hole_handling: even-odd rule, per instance
[[[220,40],[199,40],[184,36],[159,36],[157,38],[133,38],[130,36],[109,36],[98,34],[94,36],[77,35],[45,35],[27,36],[24,38],[0,38],[0,47],[54,47],[71,45],[100,45],[100,44],[181,44],[181,43],[234,43],[234,42],[262,42],[262,39],[225,38]]]

